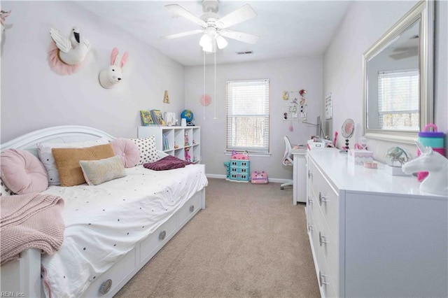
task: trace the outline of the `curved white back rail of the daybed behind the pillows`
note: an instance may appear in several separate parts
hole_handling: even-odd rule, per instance
[[[22,149],[28,150],[29,152],[38,156],[36,147],[37,143],[71,143],[98,139],[101,137],[106,137],[107,139],[109,139],[109,141],[116,139],[116,137],[93,127],[80,125],[62,125],[38,129],[34,132],[29,132],[28,134],[19,136],[18,138],[1,144],[0,150],[6,150],[10,148]]]

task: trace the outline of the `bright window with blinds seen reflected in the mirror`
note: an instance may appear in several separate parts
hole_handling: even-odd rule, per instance
[[[419,70],[378,73],[381,129],[419,130]]]

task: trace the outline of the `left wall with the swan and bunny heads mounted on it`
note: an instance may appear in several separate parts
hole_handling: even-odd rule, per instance
[[[1,143],[53,125],[87,125],[113,136],[136,137],[140,110],[181,113],[183,66],[129,34],[99,20],[73,1],[1,1],[12,10],[1,43]],[[78,73],[50,69],[50,27],[78,26],[92,50]],[[130,53],[123,82],[106,90],[98,74],[113,47]],[[171,104],[163,104],[165,90]]]

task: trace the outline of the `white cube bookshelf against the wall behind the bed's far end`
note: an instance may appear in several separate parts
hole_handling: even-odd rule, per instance
[[[137,136],[155,136],[158,150],[186,160],[186,152],[192,162],[201,161],[201,128],[199,126],[139,126]]]

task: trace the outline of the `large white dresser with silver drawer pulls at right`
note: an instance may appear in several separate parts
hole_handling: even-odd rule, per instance
[[[448,198],[414,177],[308,153],[307,225],[322,297],[447,297]],[[448,183],[448,181],[447,181]]]

